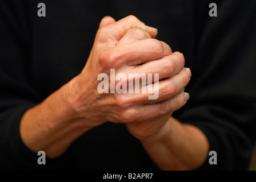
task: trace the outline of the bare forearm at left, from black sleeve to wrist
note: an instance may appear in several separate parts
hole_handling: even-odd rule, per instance
[[[66,90],[70,82],[23,115],[20,133],[31,151],[43,150],[50,158],[61,155],[75,139],[97,123],[82,118],[73,109]]]

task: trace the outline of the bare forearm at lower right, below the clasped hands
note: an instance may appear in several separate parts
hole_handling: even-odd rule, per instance
[[[201,130],[171,117],[158,136],[141,140],[151,159],[163,170],[191,170],[205,162],[209,143]]]

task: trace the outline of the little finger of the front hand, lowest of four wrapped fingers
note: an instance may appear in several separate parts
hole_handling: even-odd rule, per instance
[[[180,109],[186,104],[187,100],[189,100],[189,93],[182,92],[168,100],[141,106],[138,108],[138,113],[141,113],[141,120],[155,118]]]

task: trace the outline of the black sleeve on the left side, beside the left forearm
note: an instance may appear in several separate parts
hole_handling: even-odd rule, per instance
[[[31,86],[29,10],[21,1],[0,1],[0,169],[40,169],[58,166],[37,163],[19,135],[19,123],[27,109],[42,101]]]

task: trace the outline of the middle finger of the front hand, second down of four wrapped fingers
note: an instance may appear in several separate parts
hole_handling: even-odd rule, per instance
[[[182,53],[174,52],[159,60],[148,61],[134,68],[135,73],[159,73],[159,80],[172,77],[184,68],[185,59]]]

